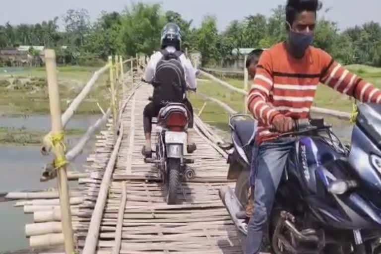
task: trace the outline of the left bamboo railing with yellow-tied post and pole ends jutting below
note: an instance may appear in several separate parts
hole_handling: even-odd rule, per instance
[[[130,58],[126,61],[122,56],[109,57],[108,63],[102,68],[95,71],[91,79],[83,87],[80,93],[74,98],[66,109],[61,114],[60,94],[59,86],[57,82],[56,74],[56,54],[54,50],[45,50],[46,59],[46,72],[49,87],[49,101],[52,119],[52,130],[43,138],[43,146],[41,152],[44,155],[48,155],[53,150],[55,160],[51,163],[47,163],[44,167],[44,171],[40,178],[41,182],[53,180],[57,178],[58,191],[41,191],[41,192],[9,192],[6,199],[23,199],[26,201],[18,202],[15,206],[24,206],[25,213],[34,213],[39,211],[43,206],[43,210],[37,213],[38,218],[35,221],[49,221],[44,216],[52,216],[52,214],[59,213],[60,222],[47,222],[41,224],[29,224],[25,227],[25,234],[29,237],[31,247],[50,246],[55,244],[64,243],[64,250],[66,254],[73,254],[76,251],[73,234],[74,229],[77,227],[77,222],[72,222],[72,215],[77,213],[76,209],[73,209],[75,205],[85,202],[81,196],[79,189],[69,190],[68,180],[77,180],[83,177],[87,173],[67,172],[66,166],[70,161],[73,161],[83,150],[85,144],[91,139],[94,133],[100,129],[106,122],[112,124],[114,130],[114,143],[118,143],[120,138],[117,138],[120,128],[120,115],[118,114],[118,108],[120,107],[120,97],[125,98],[127,93],[126,81],[131,80],[131,86],[133,84],[133,68],[138,69],[138,64],[141,61],[137,56]],[[125,68],[125,64],[129,65]],[[129,74],[124,70],[130,68]],[[94,87],[99,78],[109,71],[109,81],[111,93],[110,107],[104,111],[100,105],[100,111],[103,116],[98,119],[92,126],[88,127],[86,133],[79,139],[79,141],[69,150],[66,151],[64,144],[64,128],[69,122],[70,118],[77,111],[79,105],[87,97],[91,89]],[[122,92],[122,93],[121,93]],[[120,96],[122,94],[122,96]],[[59,206],[58,206],[59,205]],[[74,206],[73,206],[74,205]],[[49,206],[54,207],[55,211],[47,210]],[[71,209],[70,209],[71,207]],[[59,208],[59,210],[57,210]],[[52,213],[53,212],[53,213]],[[53,224],[54,225],[53,225]],[[49,224],[49,225],[48,225]],[[45,226],[44,226],[45,225]],[[62,232],[60,235],[55,235],[47,232]]]

